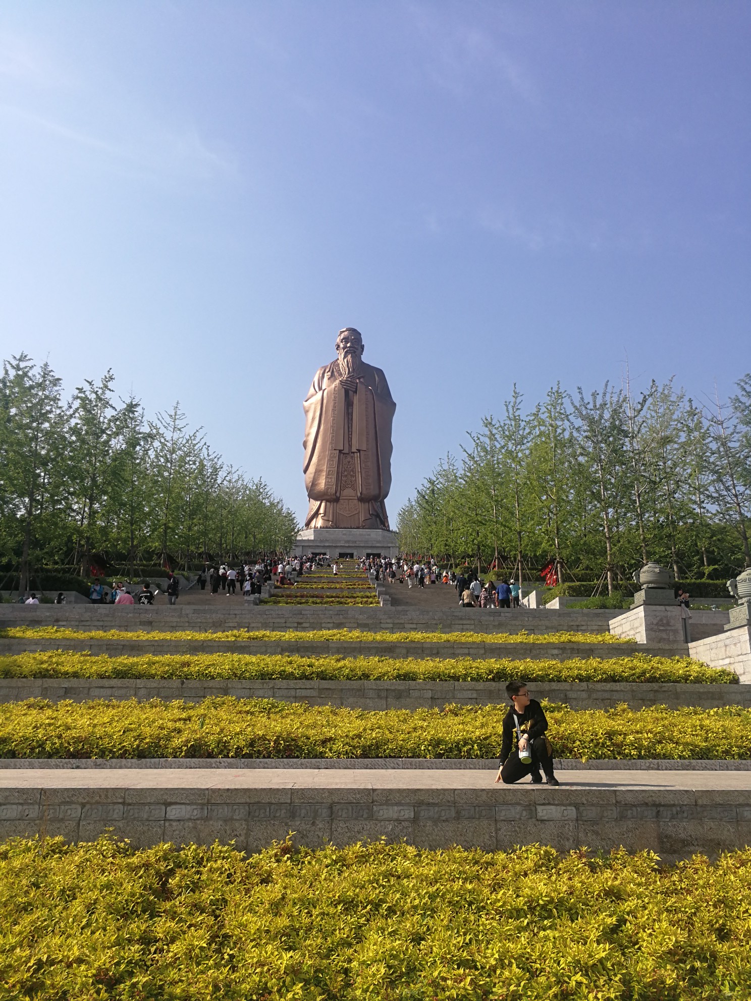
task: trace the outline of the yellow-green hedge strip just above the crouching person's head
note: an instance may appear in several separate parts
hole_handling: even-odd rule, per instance
[[[506,682],[657,682],[733,685],[731,671],[689,657],[572,658],[570,661],[473,661],[387,657],[298,657],[290,654],[149,654],[104,657],[46,651],[0,656],[0,678],[290,678]]]

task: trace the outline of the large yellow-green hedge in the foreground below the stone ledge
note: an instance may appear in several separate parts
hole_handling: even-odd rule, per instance
[[[751,851],[0,846],[15,1001],[745,1001]]]

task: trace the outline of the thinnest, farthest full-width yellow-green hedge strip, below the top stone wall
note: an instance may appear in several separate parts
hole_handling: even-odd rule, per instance
[[[273,599],[271,599],[273,601]],[[0,629],[0,640],[234,640],[244,642],[284,643],[287,641],[329,640],[336,643],[625,643],[634,644],[633,640],[622,640],[610,633],[372,633],[357,629],[319,629],[319,630],[247,630],[231,629],[221,632],[196,633],[190,630],[79,630],[68,629],[65,626],[12,626]],[[2,647],[0,647],[0,651]]]

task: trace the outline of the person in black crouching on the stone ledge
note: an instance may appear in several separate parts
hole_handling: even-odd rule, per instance
[[[531,775],[535,784],[541,783],[542,768],[549,786],[559,785],[553,774],[553,748],[545,731],[548,729],[543,707],[530,693],[524,682],[509,682],[506,694],[512,708],[504,717],[504,737],[501,744],[501,768],[496,782],[510,784]],[[514,738],[517,746],[514,751]]]

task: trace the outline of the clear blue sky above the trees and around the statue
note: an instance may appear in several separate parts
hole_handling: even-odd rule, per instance
[[[301,399],[356,326],[398,508],[532,404],[751,368],[748,2],[0,8],[0,343],[179,398],[301,516]]]

